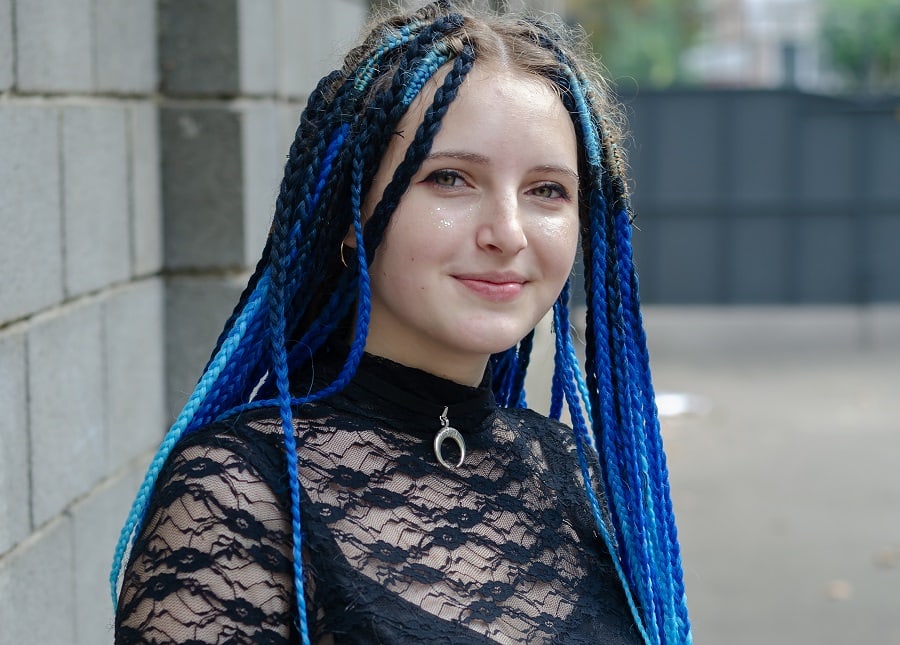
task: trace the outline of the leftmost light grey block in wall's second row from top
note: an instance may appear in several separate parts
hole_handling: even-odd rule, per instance
[[[54,109],[0,105],[0,321],[62,298],[58,121]]]

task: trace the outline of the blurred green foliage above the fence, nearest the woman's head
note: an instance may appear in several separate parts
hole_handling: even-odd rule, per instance
[[[680,60],[699,30],[697,0],[568,0],[567,7],[614,79],[651,87],[684,80]]]

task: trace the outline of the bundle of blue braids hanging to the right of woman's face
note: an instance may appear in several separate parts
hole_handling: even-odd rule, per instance
[[[588,200],[591,222],[589,253],[586,253],[590,262],[586,285],[589,285],[588,380],[582,381],[577,368],[572,369],[572,379],[594,419],[592,426],[600,434],[594,445],[602,447],[605,455],[602,474],[611,498],[609,517],[621,536],[618,545],[610,544],[610,550],[619,553],[623,583],[633,590],[636,606],[643,610],[637,612],[633,606],[635,619],[644,629],[645,637],[652,637],[648,642],[689,643],[674,514],[653,403],[637,282],[630,259],[630,230],[625,231],[630,227],[630,217],[626,210],[613,215],[606,199],[609,195],[611,204],[624,201],[624,187],[618,177],[615,178],[618,181],[601,181],[605,166],[596,118],[582,90],[583,80],[570,71],[568,61],[562,62],[567,74],[562,84],[567,90],[564,102],[574,104],[573,118],[580,130],[588,165],[601,172],[594,180]],[[608,193],[604,190],[607,183],[613,184]],[[611,230],[616,225],[618,229]],[[613,246],[607,245],[604,234],[606,239],[614,241]],[[610,326],[606,312],[616,324]],[[605,347],[597,347],[598,342]],[[577,365],[574,348],[566,351],[568,355],[557,360]],[[561,375],[554,375],[557,405],[552,412],[558,410],[559,390],[567,392],[570,383],[565,375],[567,370],[559,371]],[[567,394],[566,398],[575,423],[581,411],[572,409],[573,397]],[[620,430],[614,431],[615,428]]]

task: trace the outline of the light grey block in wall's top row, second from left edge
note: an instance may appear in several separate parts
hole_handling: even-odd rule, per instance
[[[92,15],[91,0],[17,2],[17,87],[46,92],[91,91]]]

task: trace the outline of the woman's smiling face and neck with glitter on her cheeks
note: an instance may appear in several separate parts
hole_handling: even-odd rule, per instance
[[[431,104],[400,121],[371,213]],[[366,350],[461,383],[550,309],[578,240],[575,130],[539,80],[476,64],[444,116],[370,267]]]

